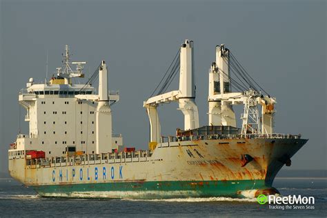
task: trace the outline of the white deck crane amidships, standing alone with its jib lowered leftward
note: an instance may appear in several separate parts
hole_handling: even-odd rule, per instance
[[[195,82],[193,63],[193,41],[188,39],[180,48],[179,90],[173,90],[150,97],[143,102],[150,119],[150,143],[160,142],[161,129],[157,108],[160,103],[178,102],[179,110],[184,114],[184,130],[199,128],[199,112],[195,103]]]

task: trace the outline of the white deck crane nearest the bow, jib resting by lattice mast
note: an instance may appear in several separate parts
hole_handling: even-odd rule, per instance
[[[233,66],[233,69],[236,67]],[[236,127],[232,105],[244,104],[244,113],[241,114],[242,137],[273,134],[276,99],[269,95],[261,95],[261,92],[252,87],[241,92],[232,92],[231,81],[233,79],[230,77],[230,51],[224,45],[217,46],[216,61],[212,63],[209,72],[209,125]],[[237,83],[236,80],[234,82]]]

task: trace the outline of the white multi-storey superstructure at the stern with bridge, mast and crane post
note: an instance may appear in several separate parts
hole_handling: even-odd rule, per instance
[[[77,72],[69,66],[66,46],[65,70],[49,83],[35,84],[31,78],[27,89],[19,93],[19,103],[26,108],[28,135],[19,135],[18,150],[43,150],[49,156],[68,152],[99,154],[112,152],[122,145],[121,135],[112,135],[110,102],[119,93],[108,92],[108,71],[104,61],[99,67],[99,94],[90,84],[73,84],[71,78],[83,77],[81,63]],[[64,77],[63,77],[64,76]]]

